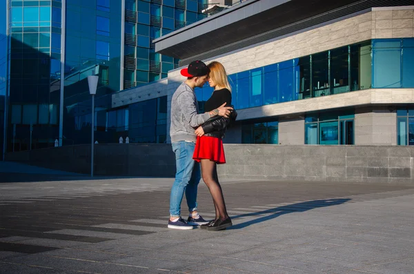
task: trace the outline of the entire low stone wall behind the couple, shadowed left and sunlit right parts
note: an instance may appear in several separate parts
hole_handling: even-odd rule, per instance
[[[222,179],[329,182],[414,182],[414,147],[225,144]],[[174,177],[170,144],[98,144],[95,175]],[[8,153],[6,160],[90,173],[90,146]]]

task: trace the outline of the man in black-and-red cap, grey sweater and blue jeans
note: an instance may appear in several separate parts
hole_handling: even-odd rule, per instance
[[[171,99],[170,137],[172,150],[175,153],[177,173],[170,195],[170,220],[168,228],[193,229],[194,226],[206,224],[206,220],[197,212],[197,187],[201,179],[199,163],[193,160],[195,148],[195,128],[204,124],[210,117],[217,115],[228,117],[230,107],[219,108],[198,114],[198,102],[194,88],[202,87],[208,81],[210,69],[202,61],[193,61],[188,68],[181,70],[187,77]],[[187,222],[181,218],[181,201],[186,193],[189,217]]]

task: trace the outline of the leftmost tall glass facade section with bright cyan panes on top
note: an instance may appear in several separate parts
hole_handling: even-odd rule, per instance
[[[59,138],[61,8],[61,1],[8,1],[8,151]]]

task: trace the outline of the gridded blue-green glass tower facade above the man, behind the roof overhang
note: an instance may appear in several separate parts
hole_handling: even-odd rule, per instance
[[[178,59],[155,53],[152,40],[203,19],[207,0],[126,0],[124,88],[166,78]]]

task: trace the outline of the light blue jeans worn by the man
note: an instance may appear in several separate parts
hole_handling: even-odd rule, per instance
[[[200,164],[193,160],[195,143],[175,141],[172,150],[175,153],[177,173],[171,188],[170,216],[181,216],[181,202],[186,193],[188,211],[197,211],[197,187],[201,179]]]

